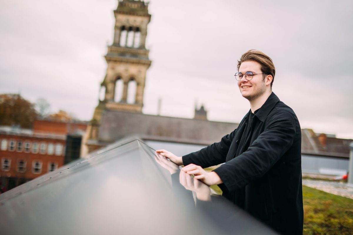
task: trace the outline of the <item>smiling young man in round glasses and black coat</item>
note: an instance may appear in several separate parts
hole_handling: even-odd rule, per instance
[[[238,87],[250,111],[237,129],[195,153],[157,150],[281,234],[303,234],[301,130],[294,111],[272,92],[275,66],[261,51],[238,61]],[[213,172],[203,168],[225,163]]]

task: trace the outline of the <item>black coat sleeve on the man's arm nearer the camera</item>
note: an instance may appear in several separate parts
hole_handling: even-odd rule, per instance
[[[222,190],[234,191],[261,178],[292,146],[296,118],[291,112],[279,111],[268,121],[265,130],[239,156],[215,169]]]

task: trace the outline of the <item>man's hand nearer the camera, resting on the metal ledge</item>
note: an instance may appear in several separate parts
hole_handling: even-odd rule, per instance
[[[202,169],[201,166],[198,166],[195,164],[189,164],[181,168],[181,170],[186,172],[189,175],[191,174],[195,175],[196,179],[201,180],[203,183],[207,184],[208,186],[223,183],[223,181],[217,175],[216,172],[207,172],[204,169]]]

